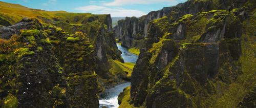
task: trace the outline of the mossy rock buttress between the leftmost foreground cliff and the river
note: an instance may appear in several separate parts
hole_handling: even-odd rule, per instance
[[[88,35],[81,32],[68,34],[53,26],[45,26],[44,29],[70,87],[71,107],[97,107],[95,53]]]

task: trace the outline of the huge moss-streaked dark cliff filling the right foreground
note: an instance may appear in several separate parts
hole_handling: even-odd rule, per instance
[[[240,2],[151,21],[120,106],[255,107],[255,2]]]

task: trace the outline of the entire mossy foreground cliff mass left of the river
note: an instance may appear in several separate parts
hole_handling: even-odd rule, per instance
[[[87,34],[71,35],[29,18],[0,31],[1,75],[6,76],[1,106],[99,106],[94,47]]]

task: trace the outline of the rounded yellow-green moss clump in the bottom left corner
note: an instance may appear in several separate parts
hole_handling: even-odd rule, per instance
[[[18,106],[18,100],[17,97],[13,96],[13,95],[8,95],[5,99],[4,99],[4,104],[3,104],[3,108],[15,108]]]

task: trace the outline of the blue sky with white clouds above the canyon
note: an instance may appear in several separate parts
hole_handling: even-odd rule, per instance
[[[33,9],[78,13],[111,14],[112,17],[142,16],[187,0],[0,0]]]

